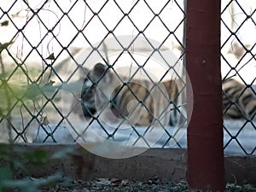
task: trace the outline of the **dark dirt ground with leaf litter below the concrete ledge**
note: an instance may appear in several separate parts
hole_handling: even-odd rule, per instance
[[[75,180],[69,184],[55,185],[53,188],[44,189],[44,192],[195,192],[185,181],[162,183],[158,177],[149,179],[148,182],[118,178],[97,178],[93,181]],[[210,191],[210,190],[207,190]],[[226,192],[255,192],[256,188],[250,184],[227,184]]]

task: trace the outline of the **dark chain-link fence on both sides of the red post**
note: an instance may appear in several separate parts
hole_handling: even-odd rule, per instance
[[[163,113],[170,115],[170,111],[175,113],[175,116],[170,115],[172,121],[186,118],[181,109],[186,104],[183,98],[184,9],[183,1],[174,0],[158,3],[142,0],[40,3],[16,0],[2,3],[0,141],[96,143],[110,139],[132,141],[131,145],[140,147],[186,148],[183,121],[177,126],[162,123]],[[254,12],[253,1],[222,1],[223,79],[235,76],[246,84],[244,89],[251,90],[255,96],[255,74],[252,73],[253,69],[255,71],[256,42],[253,39]],[[173,54],[171,61],[170,52]],[[118,79],[116,95],[127,85],[131,95],[140,100],[139,104],[131,105],[131,111],[136,111],[142,104],[145,113],[151,113],[151,116],[155,115],[147,105],[149,94],[137,98],[134,85],[129,83],[147,82],[149,88],[144,86],[153,92],[157,85],[161,86],[168,79],[180,82],[176,96],[182,99],[177,103],[173,102],[175,96],[170,100],[169,93],[168,96],[163,94],[168,89],[158,91],[160,97],[172,106],[170,109],[168,105],[159,114],[162,116],[154,119],[160,126],[160,133],[152,131],[153,121],[140,127],[130,122],[131,116],[126,118],[129,129],[123,129],[122,123],[103,124],[101,118],[108,106],[91,114],[90,119],[84,118],[81,89],[85,77],[89,76],[92,84],[101,85],[103,81],[103,78],[93,79],[91,74],[97,62],[107,66],[107,71]],[[96,90],[88,91],[86,96]],[[97,91],[108,98],[104,88]],[[84,101],[91,98],[94,97]],[[112,107],[118,107],[119,97],[113,98],[116,100],[113,99]],[[116,118],[116,112],[110,109]],[[254,124],[255,120],[247,118],[224,120],[226,152],[255,154]],[[152,141],[152,134],[157,135],[157,141]]]

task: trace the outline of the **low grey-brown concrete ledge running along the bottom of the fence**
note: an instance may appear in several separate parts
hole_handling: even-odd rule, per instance
[[[6,148],[10,148],[10,145],[6,145]],[[64,176],[80,179],[118,177],[148,181],[157,176],[162,181],[186,180],[187,150],[182,148],[151,148],[143,154],[121,160],[96,156],[77,144],[15,144],[15,148],[28,152],[42,149],[50,155],[68,152],[65,157],[49,160],[44,166],[26,162],[28,174],[32,177],[46,177],[61,172]],[[22,175],[21,172],[16,174]],[[256,156],[226,156],[225,174],[229,183],[256,185]]]

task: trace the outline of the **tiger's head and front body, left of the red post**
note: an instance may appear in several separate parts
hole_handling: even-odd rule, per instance
[[[173,79],[155,83],[120,78],[111,67],[97,63],[84,78],[82,111],[85,119],[101,117],[110,122],[118,119],[139,126],[152,125],[155,121],[172,125],[175,118],[170,122],[169,114],[177,113],[178,94]]]

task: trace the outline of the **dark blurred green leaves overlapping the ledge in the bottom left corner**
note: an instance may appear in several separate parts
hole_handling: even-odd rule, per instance
[[[28,164],[38,168],[45,166],[49,160],[63,158],[67,153],[61,152],[56,155],[42,149],[27,151],[13,144],[0,144],[0,192],[20,191],[36,192],[40,189],[55,186],[57,183],[67,184],[68,178],[61,177],[59,172],[49,176],[35,178],[29,175]]]

